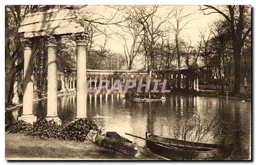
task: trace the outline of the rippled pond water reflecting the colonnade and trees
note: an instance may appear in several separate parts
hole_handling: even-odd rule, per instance
[[[145,146],[145,140],[125,135],[125,132],[145,137],[145,132],[202,143],[232,142],[231,159],[248,159],[251,145],[251,102],[217,97],[172,95],[164,102],[130,102],[119,94],[98,93],[87,97],[87,116],[95,119],[104,131],[116,131],[121,136]],[[34,115],[46,116],[47,100],[33,105]],[[22,108],[6,113],[8,122],[17,120]],[[58,115],[62,125],[76,116],[76,95],[58,97]]]

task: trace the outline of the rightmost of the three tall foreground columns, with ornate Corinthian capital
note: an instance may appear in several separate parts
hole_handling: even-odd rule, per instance
[[[87,112],[87,70],[86,70],[86,42],[88,33],[76,34],[77,45],[77,78],[76,78],[76,98],[77,115],[76,119],[86,118]]]

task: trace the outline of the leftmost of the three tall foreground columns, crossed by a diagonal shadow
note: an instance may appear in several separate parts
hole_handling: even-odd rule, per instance
[[[29,39],[24,39],[24,95],[23,95],[23,113],[18,117],[18,120],[23,120],[28,123],[36,121],[36,116],[33,114],[33,55],[31,42]]]

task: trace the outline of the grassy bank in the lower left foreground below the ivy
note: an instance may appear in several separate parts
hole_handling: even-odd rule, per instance
[[[59,139],[42,139],[21,134],[5,134],[7,160],[15,159],[160,159],[144,154],[133,157],[101,148],[93,143],[72,142]]]

